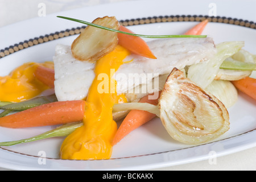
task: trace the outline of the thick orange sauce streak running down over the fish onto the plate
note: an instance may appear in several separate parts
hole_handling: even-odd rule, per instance
[[[94,70],[96,78],[86,99],[84,126],[64,140],[60,149],[61,159],[95,160],[111,157],[111,142],[117,132],[117,124],[112,116],[113,106],[126,102],[125,95],[115,92],[113,70],[117,71],[129,54],[125,48],[117,46],[113,52],[97,61]]]

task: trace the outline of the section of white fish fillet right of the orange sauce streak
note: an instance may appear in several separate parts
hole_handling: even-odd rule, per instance
[[[186,65],[207,61],[217,53],[212,38],[156,39],[147,44],[157,60],[133,55],[131,56],[133,61],[123,64],[116,75],[120,73],[126,77],[133,77],[133,74],[143,75],[147,77],[148,82],[152,80],[152,74],[170,74],[174,68],[181,70]],[[118,93],[127,93],[130,88],[138,86],[138,81],[131,81],[131,79],[124,82],[116,76],[115,80],[117,80]],[[142,79],[139,84],[147,84],[145,80]]]

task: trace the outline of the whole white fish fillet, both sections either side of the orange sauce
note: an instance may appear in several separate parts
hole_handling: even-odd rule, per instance
[[[158,59],[130,55],[115,73],[117,92],[127,93],[130,88],[146,84],[153,77],[166,75],[173,68],[183,69],[186,65],[207,61],[216,54],[212,38],[174,38],[156,39],[148,42],[148,46]],[[93,63],[82,62],[73,58],[70,46],[57,45],[55,64],[55,93],[59,101],[81,100],[95,77]],[[135,81],[134,76],[144,79]],[[128,78],[124,80],[123,78]]]

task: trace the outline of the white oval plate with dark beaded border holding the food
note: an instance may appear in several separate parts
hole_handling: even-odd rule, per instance
[[[184,2],[189,3],[189,1],[183,1],[175,5],[182,5]],[[56,15],[70,16],[72,18],[90,21],[98,16],[105,15],[115,15],[119,20],[130,20],[147,18],[149,16],[188,15],[186,12],[189,12],[191,15],[199,15],[199,13],[204,14],[205,12],[199,8],[191,11],[189,7],[186,7],[180,9],[180,12],[173,9],[174,13],[176,13],[174,14],[170,13],[170,9],[168,9],[168,7],[172,6],[172,1],[160,1],[160,5],[155,5],[154,1],[147,1],[147,9],[144,8],[144,3],[145,1],[134,1],[87,7],[48,15],[46,18],[35,18],[22,23],[16,23],[0,29],[0,39],[4,40],[0,42],[0,46],[1,48],[5,48],[23,42],[24,40],[34,39],[40,35],[44,36],[55,33],[56,31],[67,30],[67,28],[82,26],[81,24],[68,22],[67,20],[57,19]],[[240,6],[239,2],[234,4],[237,8]],[[207,7],[205,1],[203,5]],[[123,9],[123,7],[126,8]],[[132,15],[126,14],[129,13],[129,9],[135,9]],[[226,18],[230,17],[225,14],[223,15]],[[251,20],[249,16],[246,17]],[[241,17],[232,16],[232,18]],[[255,20],[255,16],[251,18]],[[151,23],[131,26],[130,29],[138,34],[147,35],[183,34],[196,23]],[[6,35],[6,32],[12,33],[14,30],[18,30],[20,33]],[[211,22],[203,34],[212,36],[216,43],[243,40],[246,44],[245,49],[256,54],[254,50],[256,46],[256,31],[253,28]],[[9,74],[15,67],[28,61],[42,62],[52,60],[56,44],[70,45],[76,36],[68,36],[42,43],[2,57],[0,59],[0,76]],[[188,146],[175,142],[167,134],[160,120],[153,119],[129,134],[117,146],[114,146],[112,159],[110,160],[60,160],[59,148],[64,138],[52,138],[34,143],[0,148],[0,167],[16,170],[143,170],[175,166],[177,164],[232,154],[256,146],[255,105],[255,101],[252,101],[244,94],[240,94],[237,104],[229,109],[231,125],[228,133],[214,142],[200,146]],[[52,128],[6,129],[0,127],[0,142],[29,138]]]

